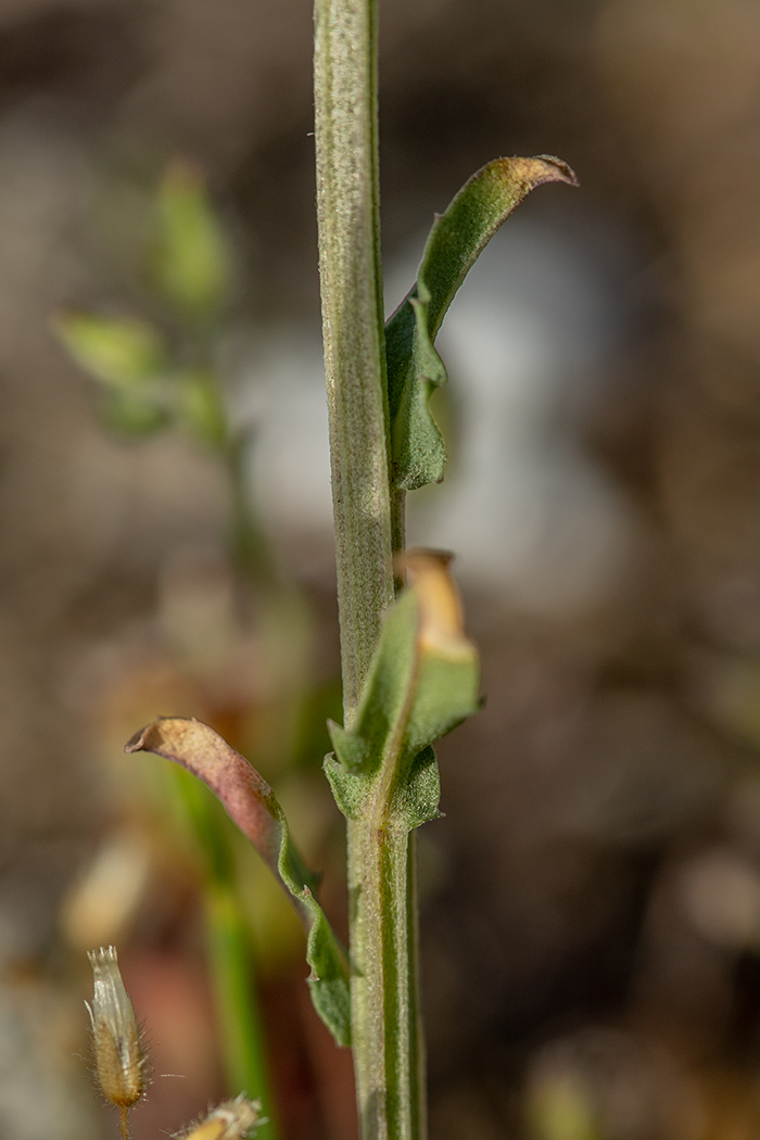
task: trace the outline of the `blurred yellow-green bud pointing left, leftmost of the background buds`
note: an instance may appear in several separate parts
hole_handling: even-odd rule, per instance
[[[58,318],[56,331],[91,376],[120,391],[145,386],[166,366],[163,337],[146,320],[72,312]]]

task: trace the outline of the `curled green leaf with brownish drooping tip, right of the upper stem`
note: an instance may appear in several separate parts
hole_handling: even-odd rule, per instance
[[[446,381],[434,341],[446,311],[490,239],[522,199],[544,182],[578,181],[564,162],[497,158],[473,174],[433,223],[417,282],[385,325],[392,480],[398,490],[440,482],[446,447],[431,392]]]

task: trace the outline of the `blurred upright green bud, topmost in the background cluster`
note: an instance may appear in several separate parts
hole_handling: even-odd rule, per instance
[[[162,180],[157,206],[156,286],[182,316],[213,317],[229,292],[231,259],[199,171],[173,162]]]

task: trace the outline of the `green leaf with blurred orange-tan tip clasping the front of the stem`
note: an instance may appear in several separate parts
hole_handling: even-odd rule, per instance
[[[414,583],[385,619],[356,725],[329,724],[325,771],[349,819],[411,830],[439,814],[431,746],[480,707],[480,669],[448,559],[417,552],[406,562]]]

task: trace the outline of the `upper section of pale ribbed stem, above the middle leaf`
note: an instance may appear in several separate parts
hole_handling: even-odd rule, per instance
[[[376,52],[376,0],[317,0],[317,220],[346,727],[393,600]]]

